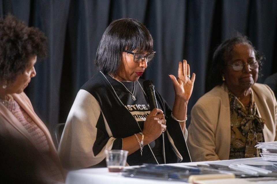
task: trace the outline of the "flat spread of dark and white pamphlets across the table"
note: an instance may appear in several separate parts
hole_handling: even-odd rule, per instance
[[[259,161],[260,160],[260,161]],[[197,163],[197,162],[196,162]],[[277,164],[263,161],[259,158],[220,160],[187,166],[180,164],[144,164],[142,166],[125,168],[120,175],[143,179],[184,181],[190,176],[213,175],[214,179],[220,174],[235,176],[236,178],[274,177],[277,181]]]

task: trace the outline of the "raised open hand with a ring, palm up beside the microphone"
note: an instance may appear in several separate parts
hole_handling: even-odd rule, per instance
[[[185,101],[188,101],[192,94],[195,74],[193,73],[190,78],[190,66],[187,64],[187,61],[183,60],[183,63],[179,62],[177,79],[174,75],[169,75],[169,77],[173,81],[175,95]]]

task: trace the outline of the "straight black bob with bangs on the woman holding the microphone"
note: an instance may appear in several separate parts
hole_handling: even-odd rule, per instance
[[[124,50],[149,53],[153,50],[149,30],[137,20],[114,20],[106,28],[96,51],[95,66],[104,74],[116,74]]]

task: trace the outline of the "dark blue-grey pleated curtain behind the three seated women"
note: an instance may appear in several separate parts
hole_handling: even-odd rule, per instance
[[[154,38],[154,62],[143,78],[173,105],[168,74],[186,59],[196,73],[190,112],[207,92],[212,53],[236,32],[246,34],[266,56],[259,83],[277,72],[276,0],[0,0],[0,15],[12,13],[48,37],[48,56],[35,65],[25,90],[49,129],[66,121],[79,88],[97,71],[96,49],[112,20],[135,18]]]

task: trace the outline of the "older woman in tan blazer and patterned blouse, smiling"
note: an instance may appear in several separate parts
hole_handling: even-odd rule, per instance
[[[258,157],[257,142],[277,140],[274,93],[256,83],[262,59],[244,36],[218,46],[211,74],[215,87],[191,111],[187,143],[192,161]]]

